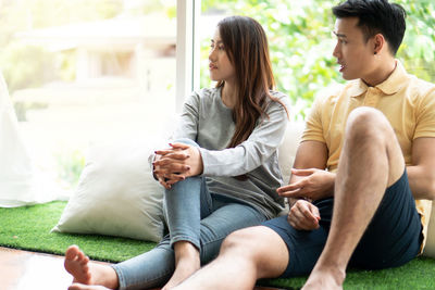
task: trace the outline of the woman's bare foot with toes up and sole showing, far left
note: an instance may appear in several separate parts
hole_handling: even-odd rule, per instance
[[[89,262],[89,257],[77,245],[71,245],[66,250],[64,266],[73,275],[73,282],[99,285],[109,289],[119,288],[116,272],[109,265]]]

